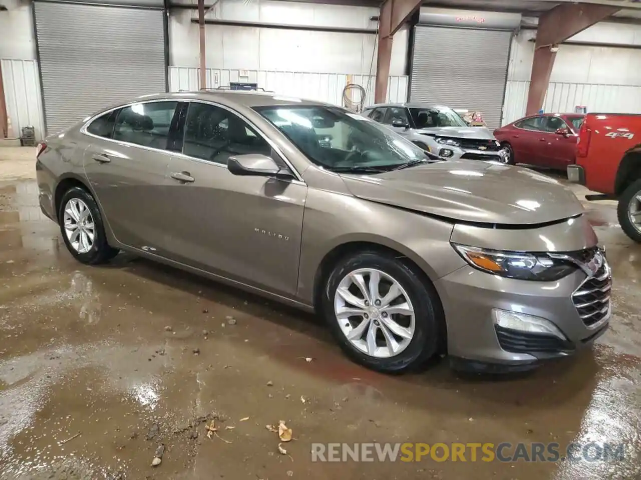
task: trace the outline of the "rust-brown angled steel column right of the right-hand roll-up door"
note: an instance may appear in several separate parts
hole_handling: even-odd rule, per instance
[[[532,73],[529,81],[526,115],[535,115],[543,106],[545,92],[550,82],[556,52],[550,50],[570,36],[600,22],[620,7],[594,3],[563,3],[541,15],[538,19]]]

